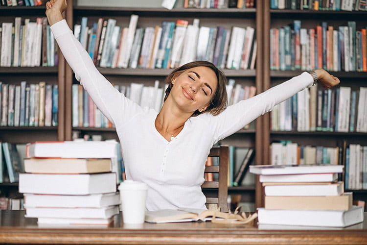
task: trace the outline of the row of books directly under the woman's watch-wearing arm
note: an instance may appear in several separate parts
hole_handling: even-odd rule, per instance
[[[273,131],[367,132],[367,88],[306,88],[276,105]]]

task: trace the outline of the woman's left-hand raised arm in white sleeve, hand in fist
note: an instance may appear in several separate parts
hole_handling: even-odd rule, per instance
[[[51,31],[69,66],[98,109],[115,125],[121,125],[139,110],[138,105],[125,98],[94,66],[88,52],[74,37],[63,18],[66,0],[46,3],[46,15]]]

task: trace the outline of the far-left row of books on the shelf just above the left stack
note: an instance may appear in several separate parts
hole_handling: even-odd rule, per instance
[[[57,126],[58,85],[0,82],[1,126]]]

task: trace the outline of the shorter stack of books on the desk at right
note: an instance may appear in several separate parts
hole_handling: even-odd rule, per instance
[[[257,209],[259,224],[345,227],[363,221],[364,208],[352,206],[338,173],[343,165],[257,165],[265,207]]]

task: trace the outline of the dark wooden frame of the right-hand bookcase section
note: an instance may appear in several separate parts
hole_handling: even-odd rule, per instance
[[[264,35],[264,90],[289,79],[295,75],[301,73],[298,71],[275,71],[272,70],[271,57],[271,28],[280,28],[285,25],[290,25],[294,20],[300,20],[302,28],[307,30],[315,28],[316,25],[320,25],[321,22],[326,22],[328,25],[332,25],[334,30],[338,26],[347,25],[348,21],[356,22],[356,29],[361,29],[366,26],[366,12],[365,11],[313,11],[313,10],[290,10],[290,9],[271,9],[270,3],[266,1],[263,5],[263,35]],[[304,71],[304,70],[303,70]],[[351,87],[352,90],[358,90],[359,87],[366,86],[366,72],[345,72],[343,71],[330,71],[331,74],[338,76],[341,80],[341,84],[338,86]],[[323,89],[318,87],[318,90]],[[334,88],[336,89],[336,88]],[[366,145],[366,133],[360,132],[298,132],[298,131],[272,131],[271,130],[271,115],[268,113],[262,117],[262,131],[263,131],[263,153],[264,159],[270,159],[271,151],[270,146],[272,142],[289,140],[298,145],[311,145],[311,146],[325,146],[325,147],[342,147],[343,141],[346,141],[347,146],[349,144],[361,144]],[[268,160],[269,161],[269,160]],[[256,190],[257,204],[263,204],[262,191]],[[365,200],[367,199],[366,190],[346,190],[352,191],[354,199]],[[260,205],[261,205],[260,204]]]

